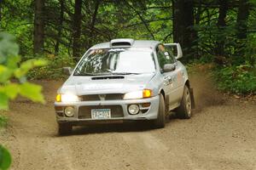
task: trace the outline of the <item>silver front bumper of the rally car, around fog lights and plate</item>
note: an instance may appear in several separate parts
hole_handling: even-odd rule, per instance
[[[150,106],[144,108],[142,105],[150,103]],[[141,111],[137,115],[130,115],[128,113],[128,105],[140,105]],[[64,109],[67,106],[73,106],[75,114],[72,117],[67,117],[64,114]],[[82,110],[83,108],[86,110]],[[90,116],[90,108],[94,109],[111,109],[118,107],[119,112],[115,116],[108,119],[92,119]],[[89,109],[88,109],[89,108]],[[119,99],[119,100],[99,100],[99,101],[80,101],[73,103],[55,102],[56,120],[59,123],[69,122],[74,125],[81,125],[86,123],[110,123],[110,122],[130,122],[139,120],[154,120],[158,116],[159,96],[154,96],[148,99]],[[81,116],[83,114],[83,116]]]

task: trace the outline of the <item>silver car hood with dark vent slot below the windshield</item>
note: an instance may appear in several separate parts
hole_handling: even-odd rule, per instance
[[[98,77],[71,76],[59,89],[59,94],[125,94],[147,88],[154,74],[113,75]]]

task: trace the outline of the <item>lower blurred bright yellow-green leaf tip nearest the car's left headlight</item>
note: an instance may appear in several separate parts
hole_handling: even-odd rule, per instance
[[[41,94],[42,87],[30,82],[20,84],[20,95],[32,101],[44,103],[44,95]]]

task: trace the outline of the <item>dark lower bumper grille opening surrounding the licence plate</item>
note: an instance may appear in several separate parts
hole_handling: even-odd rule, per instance
[[[79,119],[90,119],[92,109],[110,109],[111,117],[123,117],[121,105],[84,105],[79,107]]]

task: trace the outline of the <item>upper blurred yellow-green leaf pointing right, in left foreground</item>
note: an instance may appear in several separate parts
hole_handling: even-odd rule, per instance
[[[29,59],[23,62],[15,71],[15,77],[20,78],[24,77],[28,71],[34,67],[47,65],[47,61],[44,59]]]

